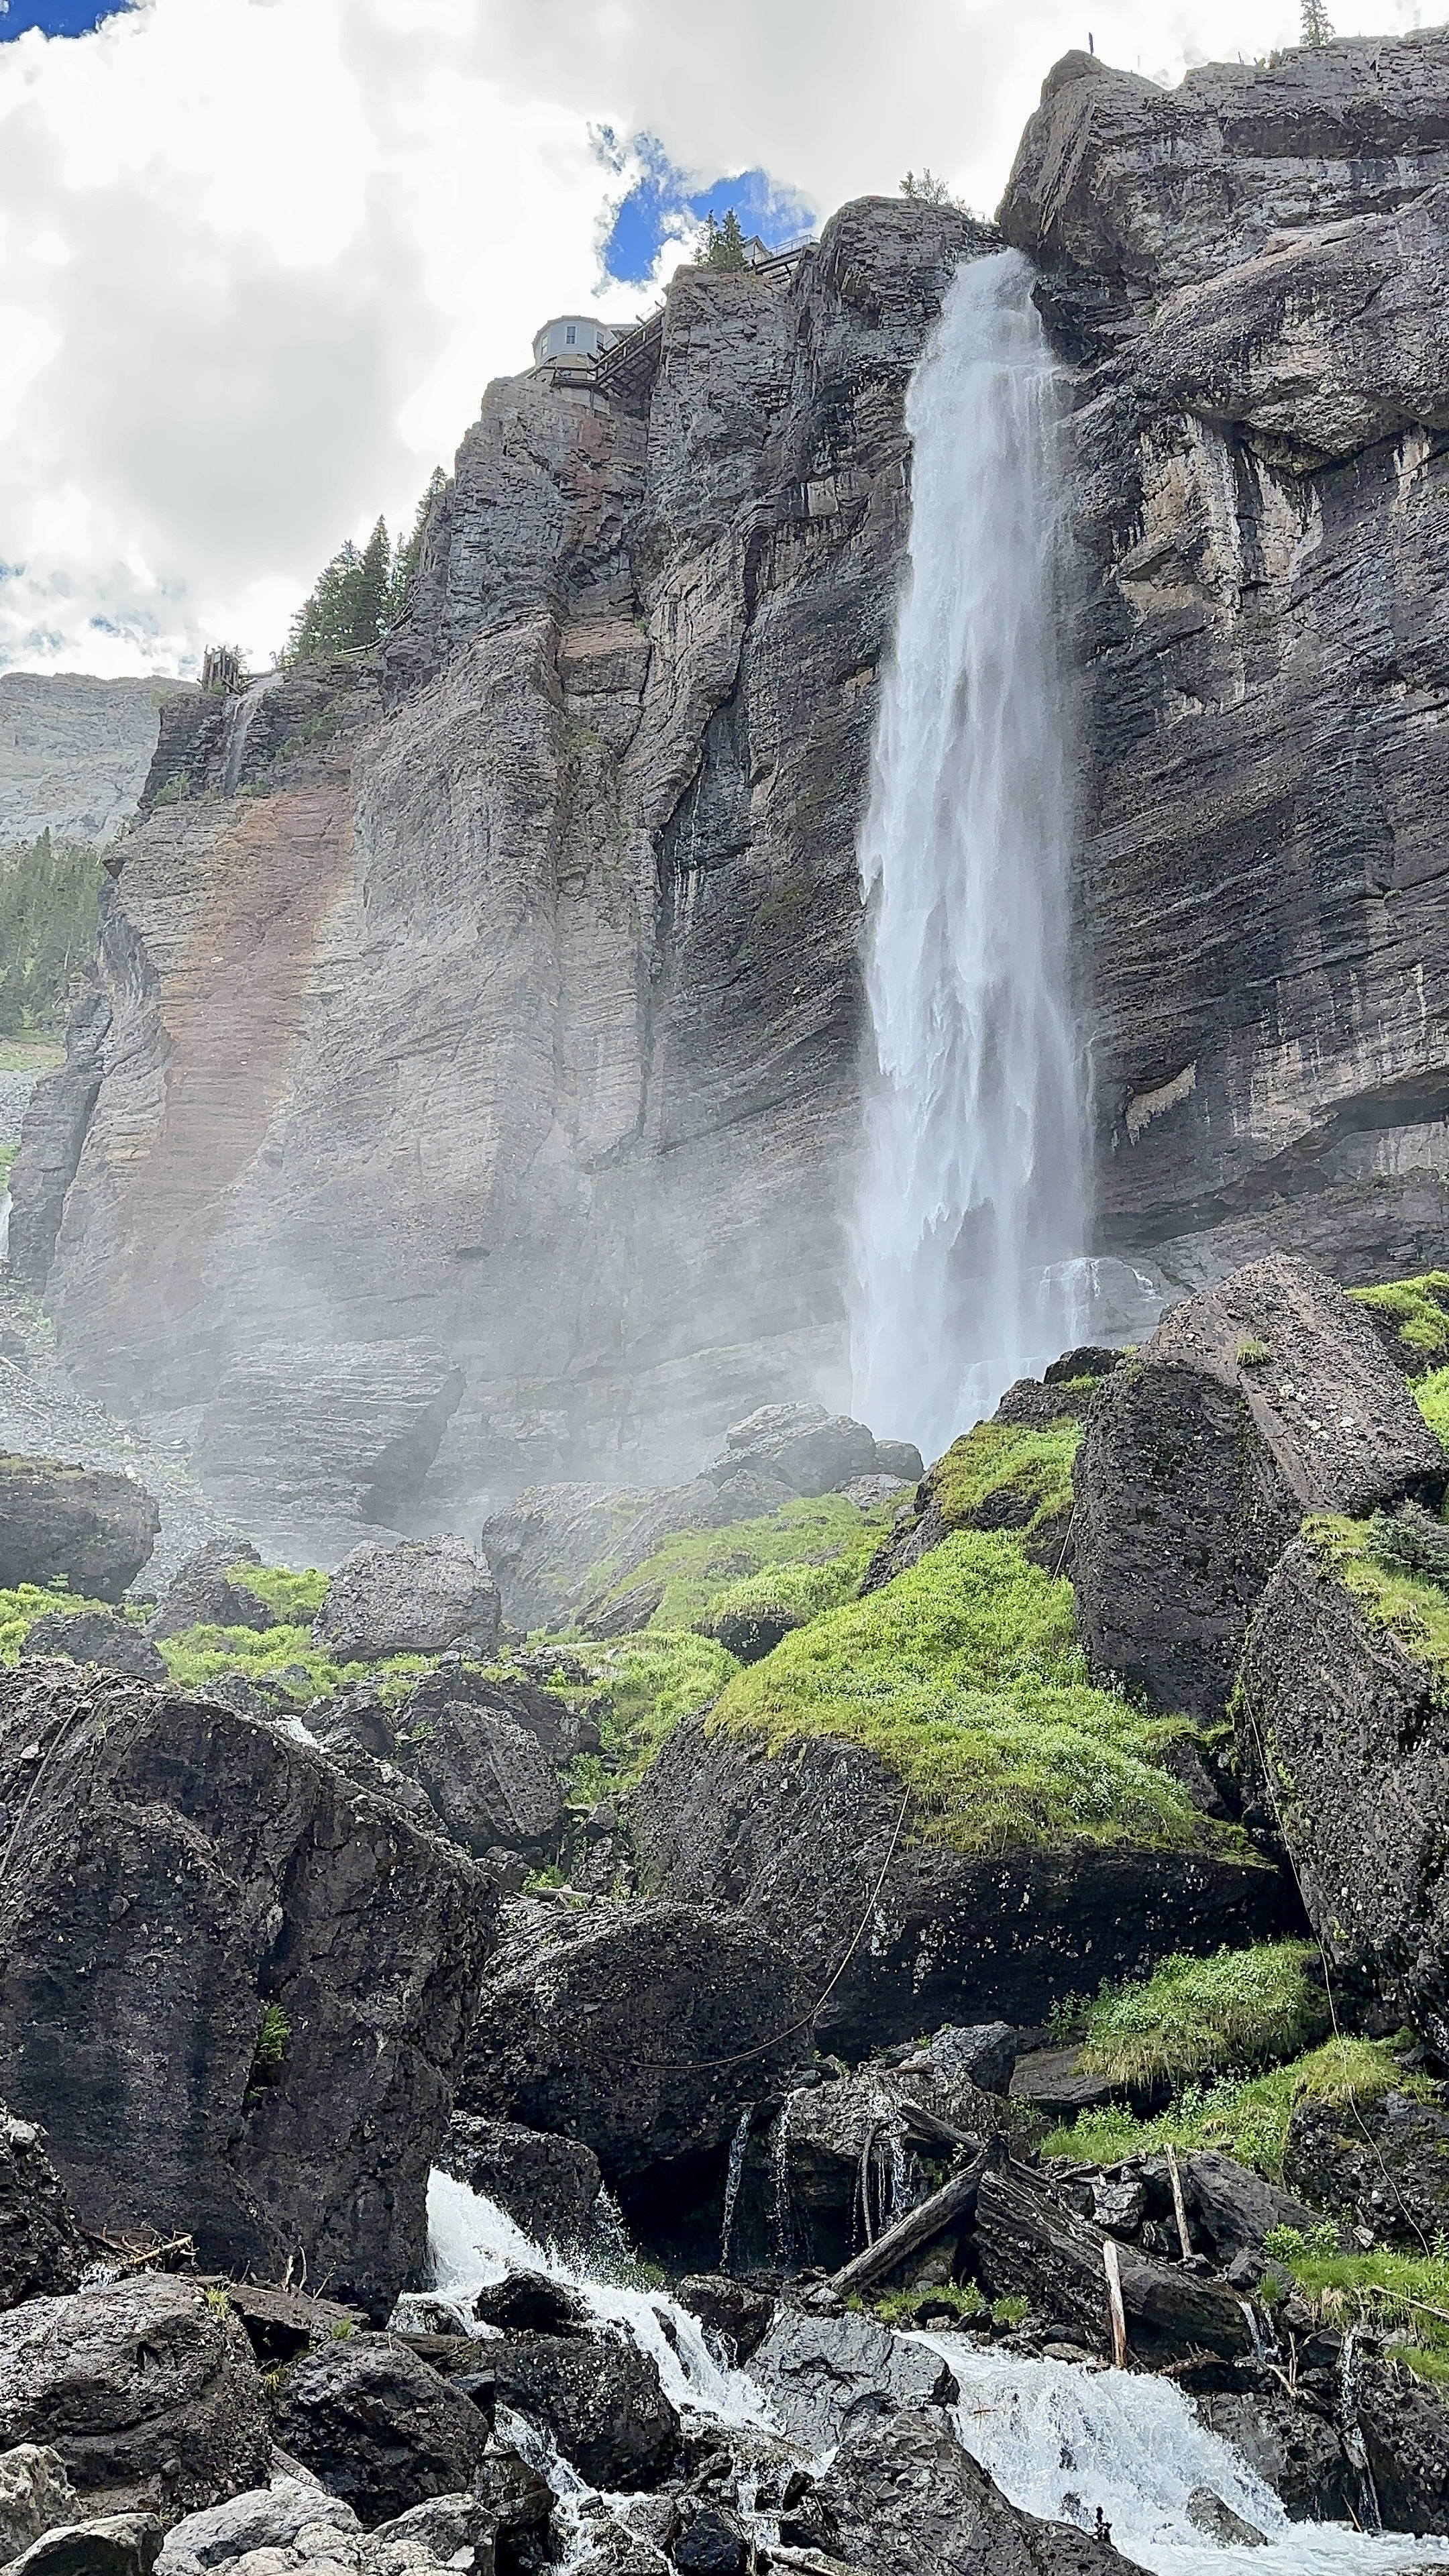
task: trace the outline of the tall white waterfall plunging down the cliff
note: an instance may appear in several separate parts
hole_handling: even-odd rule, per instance
[[[957,270],[905,420],[910,562],[861,837],[877,1064],[851,1401],[933,1458],[1083,1327],[1060,371],[1021,252]]]

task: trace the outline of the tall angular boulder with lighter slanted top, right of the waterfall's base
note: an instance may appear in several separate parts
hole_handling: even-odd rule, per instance
[[[1096,1674],[1217,1718],[1305,1512],[1436,1504],[1449,1458],[1369,1316],[1274,1252],[1189,1298],[1098,1388],[1070,1566]]]

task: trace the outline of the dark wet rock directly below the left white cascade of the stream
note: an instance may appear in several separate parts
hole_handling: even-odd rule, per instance
[[[657,2486],[673,2468],[678,2414],[652,2354],[624,2336],[511,2334],[487,2362],[500,2403],[552,2432],[588,2486]]]

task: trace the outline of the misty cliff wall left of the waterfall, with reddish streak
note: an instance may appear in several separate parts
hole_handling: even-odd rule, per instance
[[[15,1260],[255,1528],[691,1471],[838,1373],[902,392],[993,240],[681,270],[642,394],[490,386],[376,667],[162,729]]]

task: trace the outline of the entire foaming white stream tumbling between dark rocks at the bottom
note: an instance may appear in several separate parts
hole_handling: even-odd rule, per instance
[[[505,2272],[544,2272],[575,2290],[596,2324],[629,2334],[660,2370],[676,2409],[704,2416],[724,2434],[779,2442],[766,2391],[748,2370],[724,2367],[704,2329],[668,2290],[629,2277],[619,2257],[565,2257],[534,2244],[495,2202],[449,2174],[428,2184],[428,2254],[436,2298],[456,2308],[469,2331],[472,2300]],[[405,2303],[407,2306],[407,2303]],[[1134,2370],[1036,2362],[972,2342],[964,2334],[920,2334],[913,2342],[944,2354],[959,2383],[954,2409],[962,2447],[1011,2504],[1047,2522],[1096,2530],[1098,2512],[1124,2558],[1152,2576],[1449,2576],[1449,2543],[1403,2532],[1356,2532],[1346,2522],[1289,2522],[1279,2499],[1220,2437],[1207,2432],[1183,2393],[1165,2378]],[[503,2424],[505,2432],[516,2427]],[[598,2504],[547,2437],[531,2442],[559,2496],[565,2530],[580,2527],[580,2504]],[[825,2460],[797,2452],[802,2465]],[[1209,2488],[1261,2543],[1214,2543],[1189,2519],[1189,2501]],[[619,2509],[627,2499],[601,2499]],[[748,2499],[745,2499],[748,2504]]]

